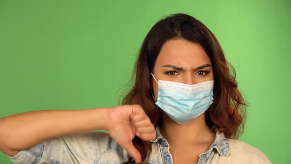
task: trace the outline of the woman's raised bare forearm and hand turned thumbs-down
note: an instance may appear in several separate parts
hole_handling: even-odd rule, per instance
[[[0,118],[0,129],[0,151],[11,157],[49,138],[105,129],[136,162],[141,162],[132,139],[135,135],[145,141],[156,137],[140,105],[25,112]]]

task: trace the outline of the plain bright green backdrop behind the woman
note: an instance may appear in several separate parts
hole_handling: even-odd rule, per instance
[[[147,32],[178,12],[202,21],[236,69],[250,103],[241,140],[290,163],[289,0],[0,0],[0,117],[118,105]],[[1,152],[0,164],[11,164]]]

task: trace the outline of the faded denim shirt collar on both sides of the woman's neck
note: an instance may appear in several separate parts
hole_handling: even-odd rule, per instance
[[[160,141],[162,146],[169,146],[166,139],[161,135],[159,126],[156,127],[155,133],[156,138],[154,140],[151,140],[150,142],[157,143],[158,141]],[[206,151],[206,154],[211,153],[213,149],[216,149],[221,156],[230,156],[228,139],[225,138],[223,133],[219,133],[218,130],[216,130],[215,139],[211,144],[210,148]]]

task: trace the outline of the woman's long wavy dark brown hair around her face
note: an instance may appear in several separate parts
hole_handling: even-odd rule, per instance
[[[214,34],[202,22],[186,14],[172,14],[159,20],[150,29],[136,61],[130,83],[132,87],[122,104],[141,105],[155,127],[159,125],[161,109],[155,105],[152,97],[150,73],[163,44],[176,39],[198,43],[207,52],[213,66],[214,100],[206,111],[206,123],[213,131],[223,132],[226,138],[238,138],[244,130],[246,103],[238,90],[234,68],[225,59]],[[142,161],[146,160],[151,152],[151,143],[135,137],[133,144],[140,151]]]

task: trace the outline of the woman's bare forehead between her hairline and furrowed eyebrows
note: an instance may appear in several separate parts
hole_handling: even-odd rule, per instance
[[[155,66],[173,64],[192,68],[207,63],[211,64],[211,61],[200,44],[179,39],[169,40],[163,44]]]

